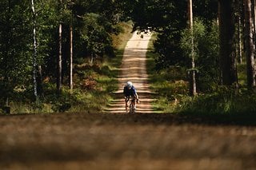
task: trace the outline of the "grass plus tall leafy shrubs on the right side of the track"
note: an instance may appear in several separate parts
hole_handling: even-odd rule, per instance
[[[239,115],[254,113],[256,110],[256,95],[246,87],[246,64],[238,64],[238,85],[218,85],[218,30],[206,29],[203,22],[194,22],[195,42],[197,43],[198,63],[198,94],[190,96],[189,70],[186,66],[171,65],[159,67],[159,53],[154,44],[158,41],[157,34],[150,42],[148,57],[148,72],[150,88],[157,93],[154,107],[162,113],[186,113],[199,115],[231,114]],[[217,29],[212,26],[211,28]],[[184,30],[180,45],[186,53],[186,36]],[[215,44],[215,45],[214,45]],[[245,58],[244,56],[242,58]]]

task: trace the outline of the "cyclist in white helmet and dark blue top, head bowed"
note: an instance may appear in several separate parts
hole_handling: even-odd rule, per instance
[[[128,101],[130,97],[132,97],[132,99],[137,101],[137,102],[134,102],[134,109],[136,109],[136,103],[138,103],[138,93],[131,81],[126,82],[126,85],[123,88],[123,94],[125,95],[126,112],[128,112]]]

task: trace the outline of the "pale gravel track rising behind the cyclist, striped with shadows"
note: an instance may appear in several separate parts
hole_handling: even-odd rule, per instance
[[[122,90],[127,81],[132,81],[138,91],[140,104],[136,113],[156,113],[151,105],[153,93],[149,89],[146,73],[146,51],[151,36],[150,33],[143,34],[142,38],[136,31],[127,42],[119,69],[118,91],[114,92],[114,100],[105,109],[106,113],[126,113]]]

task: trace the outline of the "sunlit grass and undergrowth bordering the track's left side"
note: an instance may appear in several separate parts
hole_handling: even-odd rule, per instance
[[[30,102],[30,90],[16,88],[6,101],[10,113],[101,112],[111,99],[110,93],[118,87],[117,68],[121,64],[126,42],[132,35],[131,22],[120,22],[118,26],[120,33],[111,35],[114,56],[97,58],[93,63],[90,63],[89,59],[78,61],[78,64],[74,65],[72,91],[66,80],[61,93],[56,93],[56,85],[45,79],[44,97],[39,102]],[[0,109],[0,113],[4,112],[5,110]]]

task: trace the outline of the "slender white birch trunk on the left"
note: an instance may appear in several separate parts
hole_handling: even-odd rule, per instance
[[[34,53],[33,53],[33,89],[34,89],[34,100],[38,101],[38,87],[37,87],[37,38],[36,38],[36,13],[34,10],[34,0],[31,0],[31,7],[33,12],[33,22],[34,22],[34,28],[33,28],[33,47],[34,47]]]

